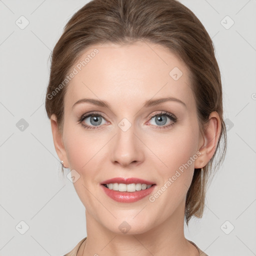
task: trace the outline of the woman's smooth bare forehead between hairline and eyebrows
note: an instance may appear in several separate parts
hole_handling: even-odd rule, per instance
[[[189,69],[158,44],[95,44],[82,52],[70,70],[75,75],[68,83],[65,105],[83,97],[134,105],[162,96],[176,97],[187,107],[194,104]]]

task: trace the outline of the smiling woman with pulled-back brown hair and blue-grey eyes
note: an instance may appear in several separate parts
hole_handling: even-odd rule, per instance
[[[66,255],[206,255],[184,218],[202,216],[226,131],[212,41],[188,8],[85,4],[53,49],[45,107],[85,206],[87,236]]]

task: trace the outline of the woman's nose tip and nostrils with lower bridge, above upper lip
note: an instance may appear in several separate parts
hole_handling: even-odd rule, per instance
[[[144,144],[131,125],[126,131],[117,126],[116,135],[111,142],[111,161],[113,164],[137,166],[144,160]]]

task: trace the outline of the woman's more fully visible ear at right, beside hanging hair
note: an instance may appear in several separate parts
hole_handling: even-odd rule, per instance
[[[215,152],[221,130],[221,121],[216,111],[210,113],[208,122],[200,139],[198,151],[201,152],[194,162],[194,168],[204,167]]]

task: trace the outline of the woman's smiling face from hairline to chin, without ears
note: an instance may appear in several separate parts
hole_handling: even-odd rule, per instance
[[[173,218],[183,222],[202,144],[188,68],[166,48],[136,42],[90,47],[71,72],[62,159],[72,170],[86,215],[118,233],[123,226],[142,233]],[[171,100],[157,103],[161,98]],[[94,116],[84,118],[88,114]],[[102,184],[116,177],[154,185],[120,192]],[[140,188],[139,180],[128,183],[135,184],[113,186]]]

